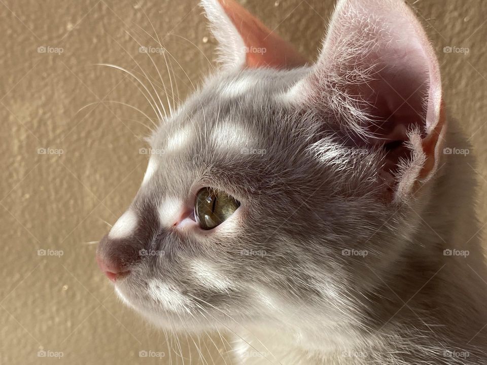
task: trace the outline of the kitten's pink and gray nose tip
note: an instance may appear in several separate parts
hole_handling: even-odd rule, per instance
[[[140,260],[140,247],[127,239],[103,237],[96,251],[96,262],[100,270],[115,282],[130,273],[130,267]]]

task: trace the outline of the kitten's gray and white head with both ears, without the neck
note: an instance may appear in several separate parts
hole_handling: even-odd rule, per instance
[[[401,0],[339,0],[312,64],[233,0],[201,4],[221,66],[150,138],[100,267],[166,327],[346,323],[430,199],[434,51]]]

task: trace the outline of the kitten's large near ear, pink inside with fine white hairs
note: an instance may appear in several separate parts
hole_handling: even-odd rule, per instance
[[[339,0],[317,62],[287,98],[316,110],[347,143],[383,149],[377,176],[395,200],[437,169],[445,129],[438,61],[402,0]]]

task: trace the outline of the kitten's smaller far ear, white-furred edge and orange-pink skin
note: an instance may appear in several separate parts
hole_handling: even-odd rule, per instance
[[[293,68],[306,59],[234,0],[201,0],[225,68]]]

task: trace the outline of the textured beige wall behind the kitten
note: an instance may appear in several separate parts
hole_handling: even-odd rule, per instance
[[[242,1],[310,57],[333,3]],[[415,6],[438,51],[446,103],[479,156],[479,205],[485,207],[487,2],[421,0]],[[89,242],[108,231],[142,180],[147,156],[138,150],[145,145],[144,124],[149,126],[133,109],[101,101],[124,102],[153,116],[129,77],[94,64],[140,72],[138,62],[159,86],[157,72],[131,39],[157,47],[150,19],[180,64],[172,61],[184,99],[191,82],[199,84],[211,69],[206,57],[214,58],[215,41],[201,9],[193,0],[2,0],[0,17],[0,363],[183,363],[176,340],[126,309],[93,259],[96,245]],[[38,53],[43,46],[63,52]],[[445,46],[470,52],[444,53]],[[154,58],[167,83],[163,57]],[[99,103],[78,112],[93,102]],[[38,154],[40,148],[63,154]],[[479,219],[486,221],[484,210]],[[40,256],[38,249],[63,255]],[[215,346],[225,351],[220,340],[200,345],[213,352],[208,363],[221,361],[215,354]],[[188,346],[191,363],[202,363],[193,340],[183,337],[184,363],[190,363]],[[63,357],[40,358],[40,349],[62,351]],[[140,358],[141,350],[166,356]]]

